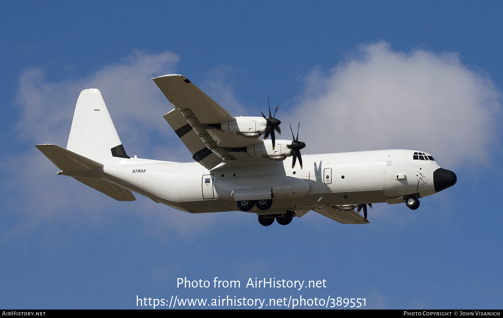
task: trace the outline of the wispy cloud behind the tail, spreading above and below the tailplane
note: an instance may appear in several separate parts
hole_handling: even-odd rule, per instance
[[[16,100],[22,111],[17,136],[33,145],[56,143],[65,147],[80,91],[98,88],[130,155],[190,160],[190,152],[162,118],[172,106],[150,79],[174,73],[179,59],[168,51],[135,51],[87,78],[61,82],[48,81],[43,68],[27,69],[20,77]],[[136,215],[140,205],[145,232],[163,237],[170,237],[170,233],[191,237],[194,232],[211,227],[215,218],[193,217],[153,202],[145,204],[143,198],[126,204],[117,202],[71,178],[56,176],[58,169],[34,146],[24,153],[8,155],[2,164],[9,171],[2,179],[6,189],[2,196],[13,220],[2,226],[0,244],[20,235],[32,235],[41,224],[50,228],[50,235],[57,236],[54,240],[64,242],[68,226],[112,224],[115,220],[110,211]]]

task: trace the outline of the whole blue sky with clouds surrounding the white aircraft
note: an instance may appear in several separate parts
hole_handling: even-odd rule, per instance
[[[501,308],[502,7],[3,3],[0,305],[331,295],[366,298],[367,308]],[[235,116],[260,115],[270,96],[283,123],[301,122],[305,152],[420,149],[458,182],[415,211],[375,204],[365,226],[309,212],[264,227],[244,212],[115,201],[57,176],[33,146],[65,146],[78,94],[94,87],[129,155],[191,161],[150,80],[167,73],[184,74]],[[189,290],[177,288],[179,277],[328,287]]]

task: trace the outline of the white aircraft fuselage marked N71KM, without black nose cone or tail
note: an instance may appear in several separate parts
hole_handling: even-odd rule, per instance
[[[271,193],[268,212],[311,210],[323,205],[398,203],[406,195],[436,193],[436,161],[413,160],[414,150],[373,150],[303,155],[274,162],[258,159],[208,171],[200,164],[124,158],[103,167],[102,178],[150,199],[191,212],[236,210],[236,201]],[[131,164],[128,164],[131,163]],[[241,195],[248,197],[240,197]],[[254,197],[255,195],[255,197]],[[250,212],[261,212],[254,207]]]

